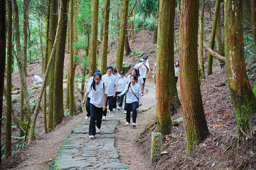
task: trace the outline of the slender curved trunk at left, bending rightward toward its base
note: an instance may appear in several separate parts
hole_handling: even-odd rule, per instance
[[[25,119],[28,122],[30,119],[30,104],[29,104],[29,94],[28,94],[28,85],[27,80],[24,72],[24,66],[23,66],[23,58],[22,58],[22,50],[21,50],[21,44],[20,44],[20,26],[19,26],[19,10],[18,10],[18,4],[16,0],[12,1],[13,4],[13,18],[14,18],[14,36],[16,41],[16,48],[17,48],[17,56],[16,60],[19,67],[19,74],[20,74],[20,82],[21,86],[24,92],[24,106],[22,112],[25,115]]]

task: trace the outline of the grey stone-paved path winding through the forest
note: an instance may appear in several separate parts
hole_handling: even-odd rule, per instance
[[[146,111],[156,105],[154,85],[146,85],[148,93],[142,96],[143,107],[139,112]],[[102,121],[101,133],[89,139],[89,120],[85,118],[71,130],[58,155],[52,161],[50,170],[129,170],[128,165],[119,160],[114,146],[115,130],[121,119],[125,119],[124,110],[113,111],[113,117]]]

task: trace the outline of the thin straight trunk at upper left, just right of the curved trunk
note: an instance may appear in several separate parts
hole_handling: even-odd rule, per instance
[[[24,72],[27,76],[27,46],[28,46],[28,0],[23,0],[23,60]]]

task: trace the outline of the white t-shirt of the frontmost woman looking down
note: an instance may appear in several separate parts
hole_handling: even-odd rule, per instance
[[[105,94],[108,94],[108,86],[105,83],[103,88],[103,81],[100,81],[99,85],[95,83],[95,89],[93,87],[91,88],[92,83],[89,84],[89,87],[87,88],[87,92],[92,93],[92,97],[90,100],[90,103],[92,103],[96,107],[103,107],[105,102]]]

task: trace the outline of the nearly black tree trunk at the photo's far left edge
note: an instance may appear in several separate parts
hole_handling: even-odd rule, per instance
[[[4,0],[0,1],[0,96],[4,95],[4,71],[5,71],[5,55],[6,55],[6,8]],[[10,5],[12,6],[12,5]],[[9,8],[8,8],[9,10]],[[12,14],[11,14],[12,16]],[[12,22],[11,22],[12,23]],[[8,29],[10,33],[11,30]],[[0,117],[3,115],[3,97],[0,98]],[[2,121],[0,121],[0,127],[2,127]],[[0,134],[2,128],[0,129]],[[1,140],[0,140],[0,149],[2,149]],[[0,163],[2,158],[0,157]]]

